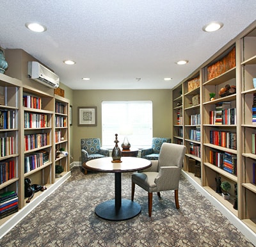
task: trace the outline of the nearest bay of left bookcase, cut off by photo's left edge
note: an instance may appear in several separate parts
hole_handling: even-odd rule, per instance
[[[0,225],[21,208],[20,86],[21,81],[0,74],[0,93],[4,99],[0,106]]]

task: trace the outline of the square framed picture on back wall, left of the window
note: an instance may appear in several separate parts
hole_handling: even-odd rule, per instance
[[[97,126],[97,107],[78,107],[78,126]]]

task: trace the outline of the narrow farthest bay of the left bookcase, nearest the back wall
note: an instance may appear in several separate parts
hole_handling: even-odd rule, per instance
[[[63,168],[63,173],[70,171],[69,164],[69,100],[61,96],[54,95],[54,154],[55,165]]]

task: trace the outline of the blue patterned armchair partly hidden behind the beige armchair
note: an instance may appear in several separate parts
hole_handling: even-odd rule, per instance
[[[156,161],[163,143],[171,143],[171,138],[153,138],[152,147],[141,149],[141,158]]]

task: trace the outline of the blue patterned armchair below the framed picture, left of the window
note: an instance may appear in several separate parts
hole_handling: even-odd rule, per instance
[[[109,150],[100,147],[99,138],[87,138],[81,139],[81,160],[84,174],[87,174],[85,163],[91,159],[99,159],[102,157],[108,157]]]

